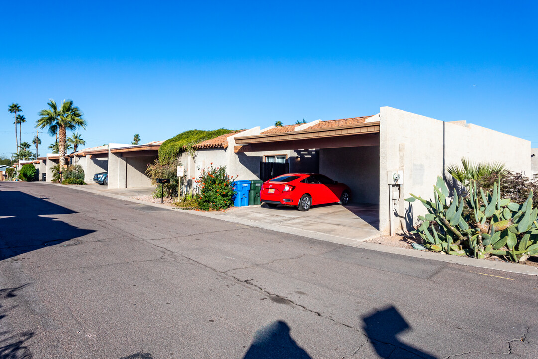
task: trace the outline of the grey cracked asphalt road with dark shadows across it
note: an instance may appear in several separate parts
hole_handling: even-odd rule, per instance
[[[538,278],[0,182],[0,359],[538,358]]]

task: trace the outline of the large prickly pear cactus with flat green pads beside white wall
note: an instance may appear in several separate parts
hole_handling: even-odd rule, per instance
[[[497,255],[513,262],[524,262],[538,253],[538,209],[532,208],[532,191],[522,205],[500,198],[500,180],[492,193],[482,188],[477,191],[476,182],[472,182],[465,198],[454,191],[449,202],[448,195],[447,186],[438,177],[434,201],[414,194],[406,199],[419,200],[428,210],[419,216],[422,224],[415,231],[428,249],[476,258]]]

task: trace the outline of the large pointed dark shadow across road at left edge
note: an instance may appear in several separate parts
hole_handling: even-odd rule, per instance
[[[69,223],[43,216],[74,214],[45,199],[18,192],[0,193],[0,260],[93,233]]]

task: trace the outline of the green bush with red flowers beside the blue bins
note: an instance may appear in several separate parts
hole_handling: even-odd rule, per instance
[[[236,176],[237,177],[237,176]],[[199,206],[202,210],[221,210],[233,205],[232,182],[235,178],[226,174],[226,166],[204,168],[195,181],[200,187]]]

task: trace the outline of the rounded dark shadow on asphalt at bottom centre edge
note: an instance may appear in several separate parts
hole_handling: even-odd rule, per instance
[[[289,330],[281,320],[256,330],[243,359],[312,359],[289,335]]]

